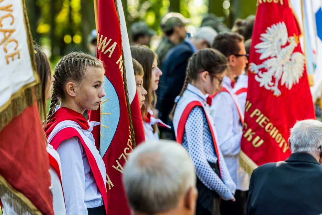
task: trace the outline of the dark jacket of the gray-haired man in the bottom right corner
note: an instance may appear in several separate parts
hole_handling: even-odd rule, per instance
[[[322,214],[322,165],[307,153],[263,164],[251,174],[246,214]]]

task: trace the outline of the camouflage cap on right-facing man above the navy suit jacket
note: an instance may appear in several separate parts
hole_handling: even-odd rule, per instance
[[[190,19],[185,18],[180,13],[168,13],[161,19],[161,28],[163,32],[170,31],[175,26],[183,26],[190,23]]]

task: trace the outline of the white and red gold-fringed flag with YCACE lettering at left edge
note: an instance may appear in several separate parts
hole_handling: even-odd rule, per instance
[[[5,214],[54,214],[40,84],[23,0],[0,1],[0,198]]]

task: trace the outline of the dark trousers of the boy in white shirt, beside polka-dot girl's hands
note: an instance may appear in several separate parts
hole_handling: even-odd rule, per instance
[[[236,190],[235,192],[236,201],[221,200],[221,204],[220,204],[221,215],[245,215],[247,196],[248,196],[248,191]]]

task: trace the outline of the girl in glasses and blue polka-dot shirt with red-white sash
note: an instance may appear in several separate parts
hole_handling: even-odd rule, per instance
[[[178,143],[188,151],[197,175],[196,214],[220,214],[219,196],[234,201],[236,185],[217,145],[209,106],[227,70],[226,57],[202,49],[188,61],[185,83],[170,114]]]

